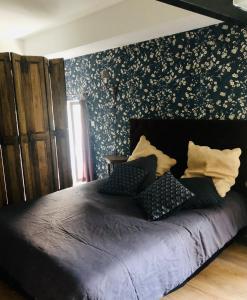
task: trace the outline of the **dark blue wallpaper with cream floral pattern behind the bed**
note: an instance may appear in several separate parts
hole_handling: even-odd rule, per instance
[[[130,118],[247,119],[245,27],[222,23],[73,58],[65,73],[70,99],[87,94],[99,177],[115,143],[117,153],[129,154]]]

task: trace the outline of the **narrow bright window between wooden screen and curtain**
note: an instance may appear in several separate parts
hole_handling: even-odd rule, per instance
[[[70,156],[74,185],[82,180],[82,120],[79,101],[68,101]]]

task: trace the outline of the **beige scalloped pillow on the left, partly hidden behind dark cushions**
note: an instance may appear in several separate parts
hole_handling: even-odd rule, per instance
[[[141,136],[140,141],[136,145],[128,161],[152,154],[156,155],[157,157],[157,176],[163,175],[177,163],[175,159],[169,157],[168,155],[164,154],[162,151],[158,150],[156,147],[151,145],[144,135]]]

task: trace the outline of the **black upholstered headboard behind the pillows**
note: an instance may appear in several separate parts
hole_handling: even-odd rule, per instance
[[[187,166],[188,142],[215,149],[241,148],[239,176],[235,189],[246,194],[247,181],[247,121],[221,120],[130,120],[130,150],[140,136],[177,160],[172,172],[181,176]]]

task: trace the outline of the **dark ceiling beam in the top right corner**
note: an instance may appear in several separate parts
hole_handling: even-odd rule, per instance
[[[232,0],[158,0],[211,18],[247,25],[247,12],[233,6]]]

